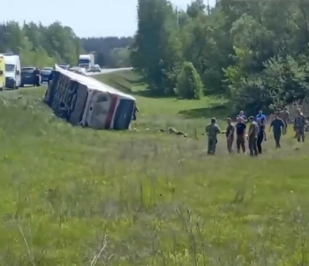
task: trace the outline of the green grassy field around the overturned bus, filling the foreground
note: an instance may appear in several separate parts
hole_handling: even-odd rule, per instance
[[[222,100],[151,98],[130,72],[97,78],[136,96],[136,130],[73,127],[44,87],[1,94],[0,265],[308,265],[309,151],[291,128],[258,158],[228,155],[223,135],[206,156]],[[168,126],[188,138],[157,132]]]

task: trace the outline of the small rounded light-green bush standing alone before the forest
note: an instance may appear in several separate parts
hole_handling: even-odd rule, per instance
[[[184,62],[184,65],[177,76],[178,96],[185,99],[201,99],[203,93],[203,83],[191,62]]]

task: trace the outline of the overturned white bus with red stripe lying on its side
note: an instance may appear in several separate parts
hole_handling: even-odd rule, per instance
[[[68,122],[94,129],[128,129],[135,98],[56,65],[44,101]]]

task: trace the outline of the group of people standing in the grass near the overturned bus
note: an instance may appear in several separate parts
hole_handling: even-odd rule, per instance
[[[290,120],[290,113],[288,108],[283,110],[277,109],[273,114],[273,119],[270,123],[269,132],[273,129],[273,136],[276,143],[276,148],[281,148],[281,135],[287,132],[287,125]],[[207,154],[214,155],[216,152],[216,145],[218,143],[217,135],[220,133],[226,134],[227,150],[233,153],[233,143],[236,135],[236,149],[237,153],[240,149],[243,153],[246,152],[245,142],[248,141],[248,148],[250,156],[258,156],[262,154],[262,142],[266,141],[265,126],[267,122],[266,116],[260,110],[259,113],[249,119],[244,115],[243,111],[239,113],[236,118],[236,124],[232,124],[231,118],[226,119],[227,127],[225,131],[221,131],[216,123],[216,118],[212,118],[210,124],[206,126],[206,134],[208,135],[208,149]],[[249,122],[248,133],[246,133],[247,124]],[[297,116],[294,118],[294,131],[297,141],[305,141],[306,118],[300,109],[297,109]],[[236,134],[235,134],[236,131]]]

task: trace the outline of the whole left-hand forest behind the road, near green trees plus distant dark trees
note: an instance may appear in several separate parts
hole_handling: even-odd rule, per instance
[[[15,21],[0,25],[0,51],[19,54],[23,66],[52,66],[56,62],[77,64],[78,55],[94,53],[102,67],[129,67],[129,46],[133,37],[80,39],[70,27],[55,22],[42,24]]]

